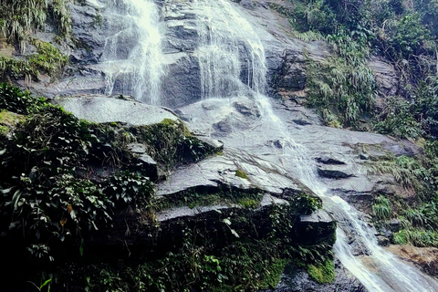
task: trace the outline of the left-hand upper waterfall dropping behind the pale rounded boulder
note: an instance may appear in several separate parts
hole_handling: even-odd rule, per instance
[[[152,0],[113,0],[105,16],[112,32],[99,64],[105,72],[105,94],[159,105],[164,67],[158,6]]]

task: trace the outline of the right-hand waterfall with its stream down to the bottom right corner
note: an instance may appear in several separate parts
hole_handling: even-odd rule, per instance
[[[248,95],[248,88],[252,89],[249,95],[258,104],[261,116],[259,124],[253,129],[264,127],[266,137],[276,137],[282,149],[278,163],[294,172],[302,183],[317,193],[324,201],[325,210],[336,217],[339,228],[335,253],[343,266],[369,291],[438,291],[438,283],[432,277],[384,251],[377,244],[372,228],[360,221],[354,208],[338,196],[331,196],[319,181],[315,162],[307,159],[310,155],[306,149],[291,139],[287,127],[275,115],[269,100],[263,95],[266,86],[264,48],[245,16],[237,13],[233,5],[224,0],[199,0],[193,9],[198,17],[200,45],[197,57],[201,68],[203,98],[245,96]],[[245,66],[246,78],[241,69]],[[228,104],[235,102],[235,99],[229,100]],[[220,104],[220,101],[215,101]],[[243,139],[241,146],[251,148],[242,137],[245,134],[238,133],[221,139]],[[354,255],[347,234],[355,236],[361,243],[366,255],[362,258],[366,262]]]

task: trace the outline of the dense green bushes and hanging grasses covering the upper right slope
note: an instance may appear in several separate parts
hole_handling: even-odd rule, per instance
[[[273,5],[295,36],[324,39],[336,56],[323,70],[308,66],[308,105],[333,126],[375,130],[401,138],[435,137],[436,1],[290,0]],[[397,69],[397,95],[382,96],[367,61],[384,57]],[[376,99],[383,98],[383,104]]]

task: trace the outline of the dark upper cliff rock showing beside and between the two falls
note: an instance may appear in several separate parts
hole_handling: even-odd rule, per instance
[[[166,0],[161,3],[162,53],[165,63],[165,78],[162,82],[163,106],[176,109],[193,103],[202,97],[201,69],[199,60],[200,35],[193,3]],[[245,17],[265,48],[268,91],[278,92],[283,97],[305,96],[306,58],[316,62],[330,55],[323,42],[303,42],[288,36],[290,26],[269,8],[268,3],[254,1],[251,5],[231,3],[241,17]],[[111,85],[111,78],[123,74],[116,63],[113,68],[101,66],[105,59],[104,49],[110,36],[118,34],[120,27],[115,23],[108,4],[104,1],[86,1],[85,5],[70,4],[73,34],[78,41],[74,49],[64,49],[68,53],[70,65],[62,78],[42,80],[24,84],[36,94],[52,98],[55,96],[95,94],[108,92],[126,94],[119,83]],[[239,46],[243,46],[242,44]],[[129,47],[118,47],[118,55],[123,58],[130,54]],[[123,51],[126,50],[126,51]],[[251,56],[242,50],[241,79],[247,83],[250,68],[246,59]],[[305,57],[306,55],[306,57]],[[128,93],[130,94],[130,93]]]

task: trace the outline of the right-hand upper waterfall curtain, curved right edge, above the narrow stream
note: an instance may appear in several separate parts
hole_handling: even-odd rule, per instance
[[[193,11],[203,99],[238,96],[245,89],[264,92],[265,50],[245,17],[225,0],[196,0]]]

